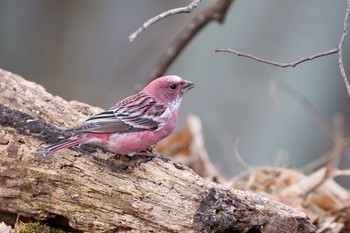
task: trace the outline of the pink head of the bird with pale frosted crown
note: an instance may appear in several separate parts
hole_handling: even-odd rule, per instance
[[[177,107],[181,103],[183,94],[193,87],[192,82],[175,75],[168,75],[153,80],[143,91],[166,104]]]

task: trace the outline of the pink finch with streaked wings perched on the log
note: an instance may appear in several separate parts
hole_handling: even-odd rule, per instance
[[[143,152],[174,131],[183,94],[193,87],[192,82],[174,75],[155,79],[142,91],[66,131],[74,136],[39,151],[48,155],[91,144],[129,156]]]

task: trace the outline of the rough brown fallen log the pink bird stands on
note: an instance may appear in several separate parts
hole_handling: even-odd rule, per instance
[[[18,214],[76,232],[315,232],[304,213],[176,162],[139,164],[89,146],[35,152],[98,111],[0,69],[0,222]]]

